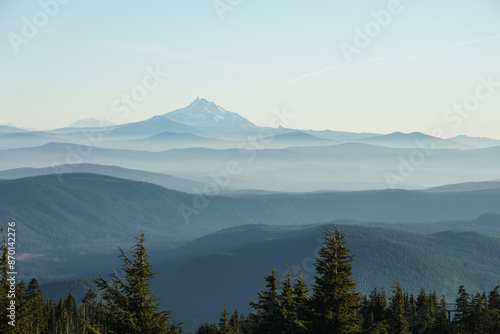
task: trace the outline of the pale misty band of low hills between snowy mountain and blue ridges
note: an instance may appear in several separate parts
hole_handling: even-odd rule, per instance
[[[237,172],[222,188],[292,192],[422,189],[500,178],[500,147],[415,150],[347,143],[266,149],[270,144],[256,141],[243,142],[239,148],[232,149],[195,147],[151,152],[109,149],[104,148],[105,145],[49,143],[0,150],[0,159],[3,170],[91,163],[204,183],[213,183],[212,175],[226,173],[227,164],[233,162]]]

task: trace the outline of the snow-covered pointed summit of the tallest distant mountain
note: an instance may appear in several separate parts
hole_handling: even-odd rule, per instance
[[[237,113],[228,111],[206,99],[196,98],[185,108],[177,109],[163,117],[178,123],[197,127],[253,128],[255,125]]]

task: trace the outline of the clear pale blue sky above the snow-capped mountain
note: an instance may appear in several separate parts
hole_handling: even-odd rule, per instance
[[[497,0],[5,0],[0,22],[0,124],[199,96],[261,126],[500,139]]]

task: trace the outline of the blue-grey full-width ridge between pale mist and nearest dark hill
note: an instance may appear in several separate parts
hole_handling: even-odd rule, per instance
[[[55,245],[88,252],[113,249],[138,231],[153,244],[181,242],[246,224],[303,225],[351,218],[422,223],[500,214],[500,189],[425,193],[367,191],[260,196],[189,195],[96,174],[0,181],[0,220],[15,218],[19,252]]]

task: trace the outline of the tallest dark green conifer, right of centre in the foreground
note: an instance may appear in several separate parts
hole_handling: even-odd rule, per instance
[[[313,331],[318,334],[355,333],[360,330],[357,315],[361,297],[356,292],[344,232],[325,229],[325,242],[316,257],[314,294],[311,300]]]

